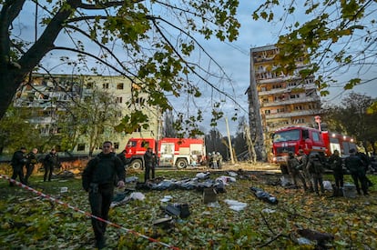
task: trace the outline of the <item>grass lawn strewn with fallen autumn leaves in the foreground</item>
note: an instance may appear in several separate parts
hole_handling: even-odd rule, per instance
[[[158,177],[179,180],[194,177],[198,171],[158,170]],[[8,175],[9,172],[3,171]],[[211,172],[215,179],[226,172]],[[138,176],[141,172],[128,173]],[[369,196],[356,198],[306,194],[301,189],[287,189],[280,184],[280,174],[247,172],[236,176],[236,182],[218,194],[217,205],[203,204],[202,193],[196,190],[138,191],[144,200],[131,200],[111,209],[110,221],[116,226],[107,228],[107,249],[164,249],[164,245],[179,249],[315,249],[317,242],[301,245],[302,229],[327,233],[334,239],[322,244],[332,249],[377,249],[377,201],[375,184]],[[332,175],[325,175],[332,181]],[[352,183],[349,175],[346,182]],[[80,175],[43,182],[42,173],[32,175],[31,187],[51,195],[65,204],[90,212],[87,193],[81,188]],[[258,199],[250,187],[259,187],[277,197],[278,205]],[[68,192],[60,193],[61,187]],[[127,184],[134,188],[135,184]],[[121,192],[122,190],[117,190]],[[171,203],[188,203],[186,219],[176,218],[170,228],[153,226],[153,221],[165,216],[160,200],[171,195]],[[225,200],[246,203],[241,211],[232,210]],[[90,217],[19,186],[9,187],[0,179],[0,245],[2,249],[93,249],[94,239]],[[132,232],[127,231],[128,229]],[[321,243],[320,243],[321,245]],[[318,248],[317,248],[318,249]]]

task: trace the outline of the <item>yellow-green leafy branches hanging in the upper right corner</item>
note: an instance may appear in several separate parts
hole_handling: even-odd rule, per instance
[[[316,75],[321,95],[327,95],[331,86],[348,90],[377,80],[372,74],[377,56],[376,12],[375,0],[278,0],[265,1],[253,18],[282,24],[277,46],[285,66],[276,70],[289,74],[300,70],[299,58],[311,62],[311,68],[300,74],[303,78]],[[342,83],[339,80],[345,73],[352,77]]]

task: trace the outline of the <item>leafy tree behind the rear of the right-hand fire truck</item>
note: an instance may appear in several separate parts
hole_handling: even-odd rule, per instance
[[[367,112],[372,103],[371,96],[352,92],[342,99],[341,105],[325,107],[324,119],[329,130],[352,135],[362,143],[366,152],[368,152],[368,145],[371,145],[372,151],[375,153],[377,114],[368,114]]]

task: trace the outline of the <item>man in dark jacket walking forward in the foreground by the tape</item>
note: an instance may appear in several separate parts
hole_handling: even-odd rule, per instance
[[[102,152],[87,163],[82,175],[83,188],[89,193],[92,215],[108,220],[108,211],[114,195],[114,185],[125,185],[125,169],[117,155],[112,153],[111,142],[104,142]],[[107,223],[92,217],[96,247],[105,247]]]

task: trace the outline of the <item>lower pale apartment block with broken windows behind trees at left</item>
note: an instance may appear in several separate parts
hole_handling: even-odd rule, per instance
[[[161,129],[161,114],[158,107],[144,104],[145,95],[139,95],[134,105],[127,104],[131,97],[132,83],[123,76],[102,75],[41,75],[35,74],[29,85],[24,85],[15,95],[14,105],[25,107],[30,111],[28,122],[33,123],[39,129],[41,135],[56,135],[60,133],[57,121],[59,116],[66,115],[69,108],[76,100],[85,100],[93,95],[95,89],[105,91],[115,98],[117,104],[115,116],[120,121],[135,105],[148,115],[148,129],[138,128],[132,134],[117,133],[114,130],[103,131],[104,138],[114,142],[119,152],[123,150],[130,137],[153,137],[158,138]],[[143,105],[141,105],[143,104]],[[87,154],[89,151],[87,136],[80,136],[72,153]],[[100,145],[94,153],[99,152]]]

